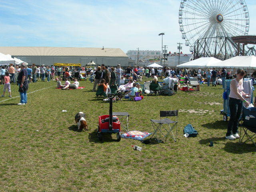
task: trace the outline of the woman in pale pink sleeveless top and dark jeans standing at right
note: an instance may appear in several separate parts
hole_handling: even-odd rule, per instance
[[[232,79],[230,82],[230,94],[229,94],[229,109],[230,109],[230,120],[228,122],[228,130],[226,133],[226,139],[234,140],[239,138],[238,132],[238,120],[241,116],[243,102],[246,107],[249,106],[249,102],[245,98],[249,98],[250,95],[243,92],[243,78],[244,70],[239,69],[236,74],[236,78]],[[223,84],[223,82],[222,82]],[[247,95],[247,96],[246,96]]]

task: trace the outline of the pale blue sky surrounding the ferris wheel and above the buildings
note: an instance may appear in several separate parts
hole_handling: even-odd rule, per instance
[[[256,34],[256,1],[246,4],[249,34]],[[0,0],[0,46],[161,50],[164,32],[163,44],[174,52],[184,43],[179,6],[180,0]]]

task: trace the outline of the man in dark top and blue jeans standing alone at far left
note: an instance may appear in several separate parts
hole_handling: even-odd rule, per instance
[[[26,64],[20,64],[20,72],[18,74],[18,86],[20,92],[20,103],[18,105],[24,105],[27,103],[27,90],[28,90],[28,72],[26,70]]]

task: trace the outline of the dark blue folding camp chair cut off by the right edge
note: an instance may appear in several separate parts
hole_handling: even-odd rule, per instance
[[[256,146],[256,140],[254,140],[256,138],[256,108],[243,107],[242,120],[239,142],[242,144],[251,141]]]

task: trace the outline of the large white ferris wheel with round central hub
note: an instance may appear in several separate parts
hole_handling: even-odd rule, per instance
[[[208,47],[208,52],[220,49],[222,37],[247,35],[249,13],[244,0],[182,0],[180,3],[180,32],[185,45],[193,52],[195,42]],[[205,45],[203,45],[205,44]],[[228,42],[229,54],[235,52],[234,44]]]

